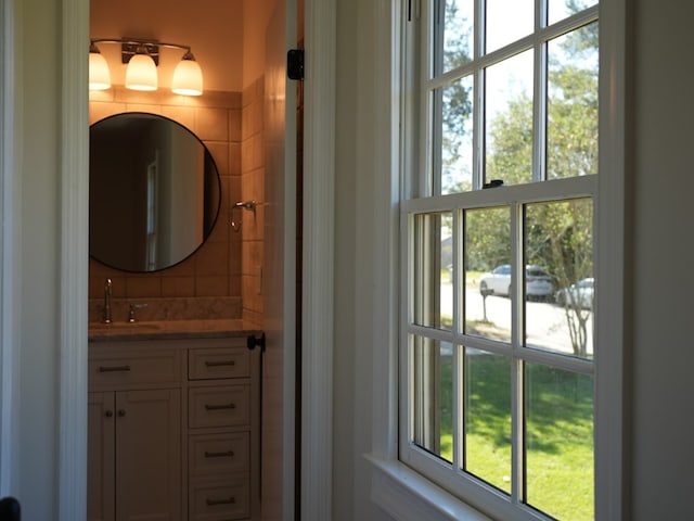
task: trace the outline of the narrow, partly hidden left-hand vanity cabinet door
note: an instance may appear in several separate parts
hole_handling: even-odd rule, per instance
[[[114,521],[113,393],[89,393],[87,433],[87,520]]]

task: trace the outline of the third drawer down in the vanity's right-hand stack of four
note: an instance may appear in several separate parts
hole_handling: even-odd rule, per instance
[[[192,435],[188,447],[191,475],[248,472],[250,469],[248,432]]]

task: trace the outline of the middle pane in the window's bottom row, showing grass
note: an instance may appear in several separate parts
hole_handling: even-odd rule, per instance
[[[511,493],[511,359],[465,350],[465,468]]]

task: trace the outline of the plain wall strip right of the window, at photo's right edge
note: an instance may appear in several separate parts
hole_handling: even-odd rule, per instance
[[[694,4],[634,15],[632,519],[691,519]]]

